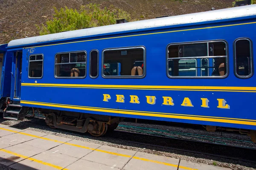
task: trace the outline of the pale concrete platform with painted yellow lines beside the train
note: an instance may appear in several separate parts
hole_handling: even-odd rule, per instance
[[[0,164],[16,170],[229,170],[0,125]]]

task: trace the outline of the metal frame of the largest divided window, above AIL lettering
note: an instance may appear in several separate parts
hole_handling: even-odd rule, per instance
[[[170,45],[185,45],[185,44],[196,44],[196,43],[212,43],[212,42],[224,42],[225,45],[226,45],[226,55],[227,57],[224,57],[224,56],[209,56],[209,46],[207,47],[207,51],[208,51],[208,56],[207,57],[180,57],[180,59],[204,59],[204,58],[211,58],[211,59],[214,59],[214,58],[227,58],[226,59],[226,74],[224,76],[170,76],[169,75],[169,71],[168,71],[168,68],[169,68],[169,60],[170,59],[174,59],[174,58],[168,58],[169,55],[168,55],[168,48]],[[204,40],[204,41],[189,41],[189,42],[172,42],[172,43],[169,43],[167,46],[166,46],[166,76],[170,79],[225,79],[229,76],[229,47],[228,47],[228,42],[226,40],[223,40],[223,39],[218,39],[218,40]],[[177,57],[179,58],[179,57]],[[208,64],[209,65],[209,64]]]

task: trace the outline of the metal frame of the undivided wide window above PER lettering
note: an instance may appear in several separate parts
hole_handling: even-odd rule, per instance
[[[134,48],[141,48],[143,49],[143,74],[140,76],[105,76],[104,75],[104,52],[105,51],[111,51],[111,50],[127,50],[127,49],[134,49]],[[138,45],[138,46],[130,46],[130,47],[118,47],[118,48],[105,48],[102,50],[102,66],[101,66],[101,74],[102,78],[105,79],[143,79],[146,76],[146,48],[144,45]]]

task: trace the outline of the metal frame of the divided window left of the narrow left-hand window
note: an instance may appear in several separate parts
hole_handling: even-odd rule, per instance
[[[70,57],[69,57],[69,62],[64,62],[64,63],[56,63],[56,57],[58,54],[67,54],[67,53],[79,53],[79,52],[85,52],[85,75],[83,77],[58,77],[56,76],[56,64],[61,65],[61,64],[79,64],[79,63],[84,63],[84,62],[70,62]],[[55,54],[54,57],[54,77],[55,79],[84,79],[87,75],[87,51],[81,50],[81,51],[66,51],[66,52],[58,52]]]

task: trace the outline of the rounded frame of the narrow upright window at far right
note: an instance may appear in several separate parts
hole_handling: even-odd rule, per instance
[[[236,73],[236,42],[239,40],[248,40],[250,42],[250,66],[251,66],[251,74],[248,76],[239,76]],[[233,64],[234,64],[234,74],[239,79],[249,79],[250,77],[253,77],[254,74],[254,66],[253,66],[253,41],[248,37],[240,37],[234,40],[233,42]]]

